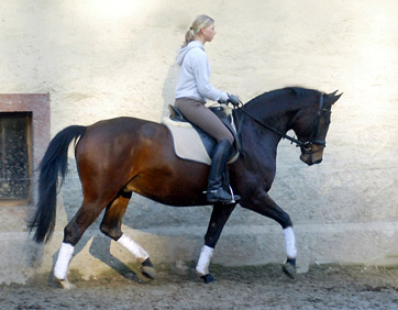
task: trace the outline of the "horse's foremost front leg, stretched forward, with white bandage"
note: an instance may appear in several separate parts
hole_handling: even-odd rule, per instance
[[[283,270],[288,277],[295,278],[297,247],[295,231],[292,229],[292,222],[289,214],[280,209],[265,190],[262,190],[261,193],[251,195],[248,197],[248,199],[240,201],[240,204],[243,208],[270,218],[281,225],[287,256],[286,262],[283,264]]]

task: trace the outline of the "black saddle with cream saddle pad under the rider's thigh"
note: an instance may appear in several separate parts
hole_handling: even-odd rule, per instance
[[[234,136],[234,152],[231,152],[229,164],[235,162],[239,157],[239,140],[233,124],[232,113],[225,112],[226,106],[209,108],[220,118],[222,123],[231,131]],[[212,151],[217,144],[215,139],[202,131],[197,125],[190,123],[183,113],[174,106],[168,106],[169,118],[165,118],[163,123],[169,129],[176,155],[184,159],[200,162],[211,165]]]

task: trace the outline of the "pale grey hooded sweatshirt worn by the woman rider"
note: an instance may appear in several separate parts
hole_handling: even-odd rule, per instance
[[[207,99],[226,101],[226,92],[213,88],[209,81],[210,65],[201,42],[191,41],[183,47],[177,56],[177,65],[180,68],[176,99],[192,98],[204,102]]]

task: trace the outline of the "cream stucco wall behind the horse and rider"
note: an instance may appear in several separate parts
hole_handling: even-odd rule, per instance
[[[344,92],[333,108],[320,166],[306,167],[287,142],[278,151],[270,195],[295,223],[300,269],[327,262],[397,264],[396,1],[5,0],[0,2],[0,92],[48,92],[52,136],[70,124],[118,115],[161,121],[173,103],[178,47],[202,12],[217,21],[218,34],[206,45],[214,86],[243,101],[291,85]],[[24,218],[32,207],[0,207],[0,241],[9,248],[0,255],[0,283],[23,283],[52,268],[63,226],[81,202],[73,152],[69,162],[57,230],[46,247],[26,237]],[[196,259],[210,212],[135,196],[124,225],[155,262]],[[71,263],[85,276],[109,268],[109,253],[129,262],[97,228],[86,233]],[[239,208],[213,262],[284,258],[279,226]]]

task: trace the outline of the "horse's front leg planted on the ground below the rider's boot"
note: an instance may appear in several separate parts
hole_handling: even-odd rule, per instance
[[[202,278],[204,284],[214,281],[215,279],[209,273],[210,259],[213,256],[213,251],[217,242],[220,239],[222,229],[236,204],[214,204],[211,213],[208,231],[204,235],[204,245],[200,251],[200,256],[196,270]]]

